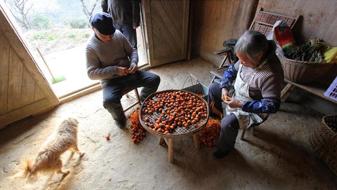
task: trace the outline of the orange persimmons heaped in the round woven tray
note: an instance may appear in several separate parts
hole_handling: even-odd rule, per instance
[[[199,121],[207,118],[207,105],[185,91],[156,94],[155,99],[149,99],[143,104],[141,111],[145,125],[164,134],[171,134],[177,127],[195,125],[198,128]]]

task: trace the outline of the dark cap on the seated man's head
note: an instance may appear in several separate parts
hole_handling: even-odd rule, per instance
[[[104,12],[95,13],[90,16],[91,27],[97,29],[101,34],[110,35],[115,33],[116,29],[112,24],[112,18]]]

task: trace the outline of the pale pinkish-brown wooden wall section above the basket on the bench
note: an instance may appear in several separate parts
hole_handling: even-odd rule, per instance
[[[260,0],[258,9],[289,16],[301,15],[293,29],[297,41],[310,37],[323,39],[331,46],[337,46],[337,1],[330,0]]]

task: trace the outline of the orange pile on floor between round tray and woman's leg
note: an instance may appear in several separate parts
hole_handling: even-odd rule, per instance
[[[206,127],[199,132],[199,139],[206,147],[214,147],[219,138],[221,124],[219,120],[209,119]]]

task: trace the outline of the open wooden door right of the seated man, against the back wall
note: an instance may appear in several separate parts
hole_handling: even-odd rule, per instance
[[[150,66],[186,59],[189,1],[142,1]]]

